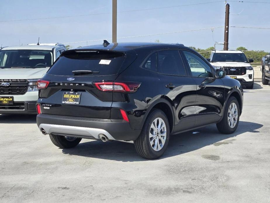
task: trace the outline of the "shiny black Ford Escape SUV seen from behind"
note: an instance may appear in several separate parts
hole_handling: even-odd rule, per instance
[[[221,133],[236,130],[243,89],[225,75],[182,44],[105,41],[64,51],[38,81],[37,125],[60,148],[132,140],[156,159],[171,135],[215,123]]]

